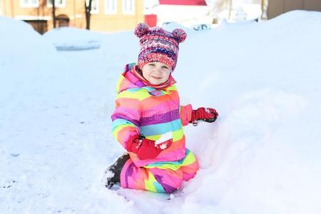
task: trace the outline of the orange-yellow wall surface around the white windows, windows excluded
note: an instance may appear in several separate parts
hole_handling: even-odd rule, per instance
[[[144,21],[143,0],[135,1],[134,14],[123,14],[123,0],[117,0],[117,14],[105,13],[105,0],[99,0],[98,13],[91,14],[91,30],[93,31],[126,31],[132,30],[139,22]],[[66,14],[70,19],[70,26],[85,29],[86,13],[85,0],[66,0],[65,7],[56,6],[56,16]],[[14,19],[47,20],[48,30],[53,28],[52,9],[46,0],[39,0],[39,7],[24,8],[20,0],[2,0],[1,12],[4,16]]]

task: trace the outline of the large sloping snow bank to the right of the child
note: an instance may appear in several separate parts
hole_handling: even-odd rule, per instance
[[[187,128],[201,170],[185,213],[321,210],[320,25],[320,12],[292,11],[182,46],[183,98],[220,113],[214,126]]]

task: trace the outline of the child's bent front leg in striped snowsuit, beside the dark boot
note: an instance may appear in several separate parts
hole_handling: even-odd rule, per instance
[[[139,168],[131,159],[121,171],[121,187],[171,193],[180,188],[183,181],[182,170]]]

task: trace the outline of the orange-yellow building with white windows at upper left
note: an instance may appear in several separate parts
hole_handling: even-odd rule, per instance
[[[88,0],[86,0],[88,1]],[[92,0],[91,30],[132,30],[144,21],[143,0]],[[52,0],[2,0],[2,16],[28,22],[43,34],[53,28]],[[86,28],[85,0],[56,0],[56,26]]]

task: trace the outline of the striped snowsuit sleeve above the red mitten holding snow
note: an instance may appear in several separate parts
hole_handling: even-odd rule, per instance
[[[111,116],[112,133],[116,140],[126,148],[126,142],[131,136],[140,134],[138,121],[141,118],[141,108],[138,98],[129,91],[118,93],[116,109]]]

